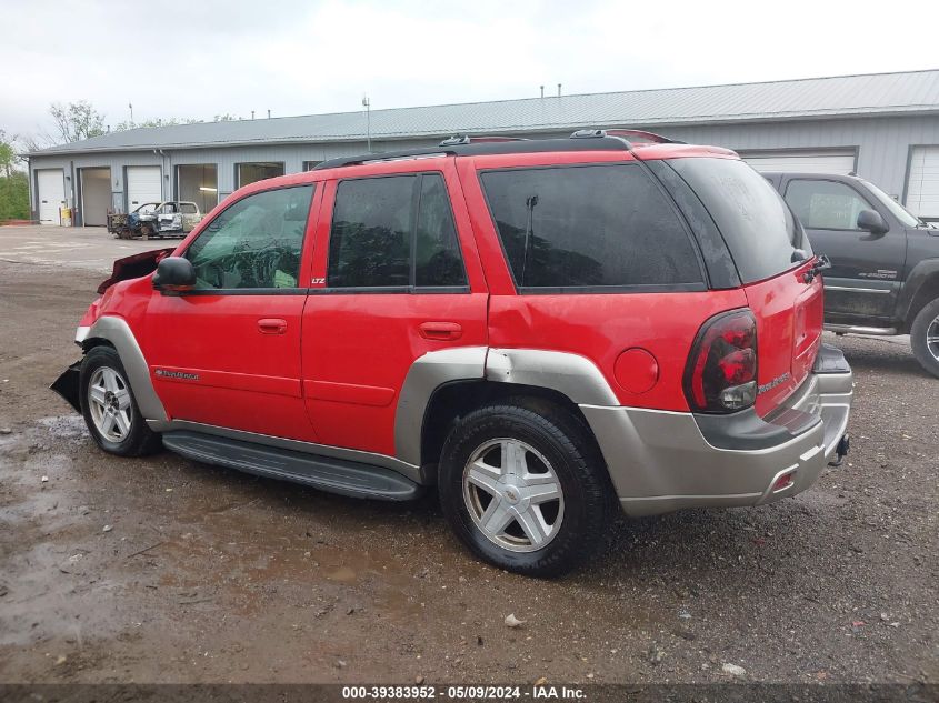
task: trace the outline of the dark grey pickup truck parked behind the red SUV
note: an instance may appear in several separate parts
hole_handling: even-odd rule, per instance
[[[827,254],[825,323],[833,332],[909,334],[939,376],[939,229],[856,175],[763,173]]]

